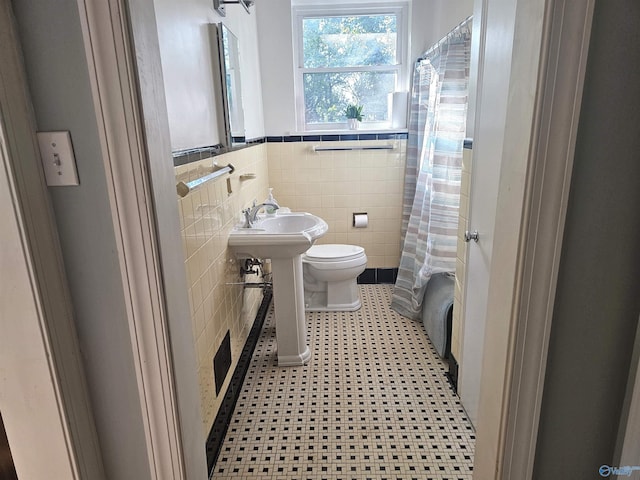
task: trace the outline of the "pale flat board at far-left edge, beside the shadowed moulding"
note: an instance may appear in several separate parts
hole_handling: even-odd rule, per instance
[[[4,130],[0,118],[0,409],[18,478],[80,479]]]

